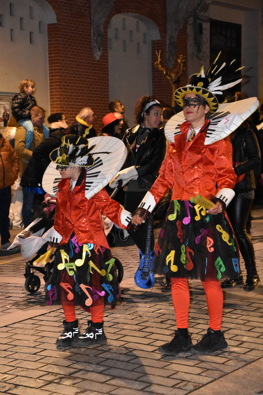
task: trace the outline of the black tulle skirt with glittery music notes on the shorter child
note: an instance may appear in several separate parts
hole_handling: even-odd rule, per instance
[[[114,308],[120,297],[114,258],[108,248],[80,244],[72,235],[59,246],[54,269],[47,286],[48,304],[90,307],[110,303]]]

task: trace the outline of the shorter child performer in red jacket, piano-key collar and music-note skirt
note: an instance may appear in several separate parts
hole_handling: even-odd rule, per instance
[[[64,331],[57,344],[69,344],[75,337],[86,344],[106,340],[104,304],[110,303],[114,308],[120,290],[101,211],[121,228],[126,228],[131,214],[111,200],[103,186],[121,168],[126,152],[124,144],[115,137],[88,140],[66,135],[62,137],[61,146],[50,154],[54,163],[51,162],[45,172],[43,188],[49,192],[47,175],[52,171],[57,181],[58,171],[62,178],[55,186],[57,181],[53,184],[50,176],[52,188],[58,188],[51,247],[58,249],[47,286],[47,303],[60,301],[65,314]],[[88,328],[82,335],[75,305],[91,312]]]

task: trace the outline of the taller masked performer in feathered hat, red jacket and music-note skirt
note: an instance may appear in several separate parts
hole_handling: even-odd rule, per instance
[[[252,98],[252,111],[247,99],[248,104],[246,100],[238,102],[239,105],[223,104],[222,111],[220,108],[215,114],[218,110],[215,93],[241,81],[230,82],[232,79],[224,85],[221,73],[226,64],[219,68],[217,60],[206,75],[202,68],[199,74],[190,77],[189,85],[176,90],[175,99],[183,107],[183,114],[174,115],[166,124],[165,133],[170,141],[167,156],[159,177],[132,217],[136,225],[143,222],[166,190],[172,189],[154,261],[155,273],[171,277],[177,331],[170,343],[158,349],[167,355],[187,350],[205,354],[228,346],[220,330],[223,293],[219,280],[222,275],[238,278],[240,268],[237,242],[224,211],[235,195],[236,180],[227,136],[255,111],[257,100]],[[206,208],[202,201],[192,202],[190,198],[196,195],[213,199],[214,204]],[[207,334],[194,346],[188,333],[188,278],[200,278],[210,318]]]

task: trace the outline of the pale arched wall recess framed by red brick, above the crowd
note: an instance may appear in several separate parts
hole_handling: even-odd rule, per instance
[[[152,94],[151,41],[160,40],[157,25],[137,13],[115,14],[108,24],[109,98],[125,105],[132,126],[134,104]]]

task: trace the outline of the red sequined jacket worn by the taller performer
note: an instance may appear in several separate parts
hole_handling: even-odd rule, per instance
[[[169,143],[159,177],[149,191],[156,204],[168,188],[173,190],[172,199],[181,200],[189,200],[196,194],[212,199],[222,188],[234,188],[236,174],[230,139],[204,145],[208,123],[206,120],[190,143],[186,143],[190,122],[181,124],[182,133],[175,136],[174,144]]]

